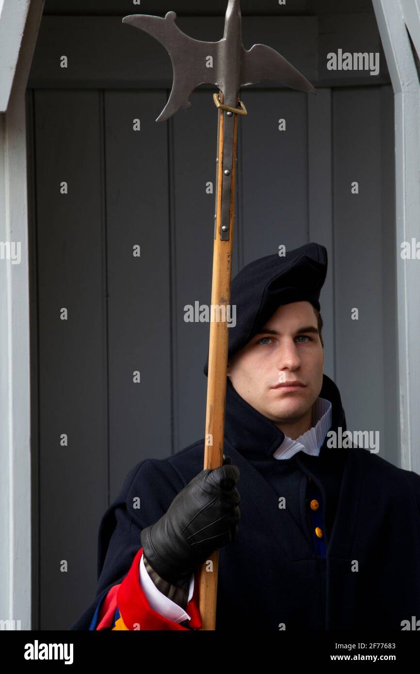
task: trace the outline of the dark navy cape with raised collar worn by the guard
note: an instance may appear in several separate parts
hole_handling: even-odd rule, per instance
[[[332,402],[330,429],[344,432],[340,393],[325,374],[320,397]],[[328,448],[328,437],[320,456],[278,460],[283,439],[228,379],[224,454],[240,470],[241,519],[219,552],[216,630],[401,630],[403,620],[419,619],[420,476],[368,449]],[[100,522],[96,596],[70,630],[89,630],[98,601],[142,547],[142,528],[167,511],[203,459],[204,439],[129,471]],[[308,477],[324,499],[326,557],[313,545]]]

